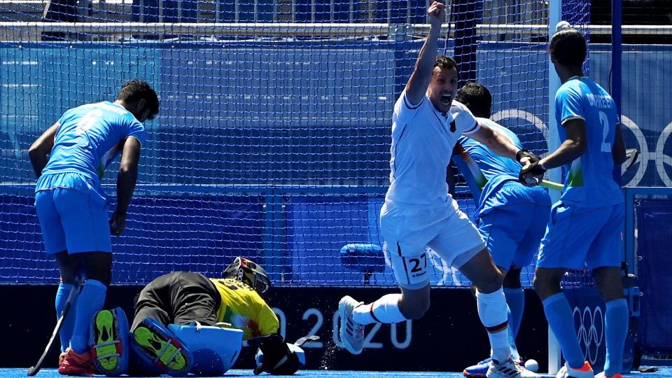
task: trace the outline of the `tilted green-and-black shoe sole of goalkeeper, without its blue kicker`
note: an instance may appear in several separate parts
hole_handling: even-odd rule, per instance
[[[169,372],[186,370],[188,362],[181,353],[182,348],[175,346],[172,340],[164,335],[140,326],[133,332],[133,338],[151,358],[154,358],[155,363],[160,362]]]

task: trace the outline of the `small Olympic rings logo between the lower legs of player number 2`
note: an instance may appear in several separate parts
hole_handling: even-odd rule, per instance
[[[584,307],[583,311],[581,311],[579,307],[574,307],[572,316],[574,318],[576,338],[583,351],[583,356],[589,363],[595,364],[600,346],[604,340],[604,316],[602,309],[595,307],[591,310],[590,307]]]

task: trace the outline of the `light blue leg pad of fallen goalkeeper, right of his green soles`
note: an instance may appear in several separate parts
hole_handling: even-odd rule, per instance
[[[223,375],[240,355],[243,331],[237,328],[169,324],[168,329],[193,353],[196,375]]]

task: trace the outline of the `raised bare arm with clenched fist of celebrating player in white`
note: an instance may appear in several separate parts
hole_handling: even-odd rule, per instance
[[[446,13],[444,5],[434,1],[427,10],[430,22],[429,35],[420,49],[418,60],[415,62],[415,69],[406,84],[406,97],[412,105],[421,102],[432,78],[432,70],[437,54],[437,38],[441,31],[441,23],[445,20]]]

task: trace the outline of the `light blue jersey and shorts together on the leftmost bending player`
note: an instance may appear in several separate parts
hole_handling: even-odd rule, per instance
[[[58,120],[54,147],[35,187],[35,207],[49,254],[111,252],[104,169],[128,137],[145,141],[144,126],[123,106],[87,104]]]

